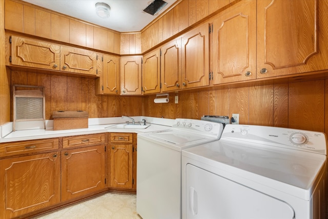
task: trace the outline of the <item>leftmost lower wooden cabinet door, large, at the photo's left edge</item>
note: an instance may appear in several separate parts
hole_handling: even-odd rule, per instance
[[[59,152],[0,161],[0,217],[13,218],[60,202]]]

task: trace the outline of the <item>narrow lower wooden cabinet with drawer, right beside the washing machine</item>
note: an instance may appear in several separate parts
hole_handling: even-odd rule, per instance
[[[110,188],[136,189],[136,134],[110,133],[109,178]]]

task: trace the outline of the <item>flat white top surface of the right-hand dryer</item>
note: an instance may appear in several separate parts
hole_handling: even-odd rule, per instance
[[[237,144],[222,138],[183,150],[182,156],[305,200],[310,199],[319,173],[325,171],[326,162],[326,156],[322,154],[272,149],[256,143]]]

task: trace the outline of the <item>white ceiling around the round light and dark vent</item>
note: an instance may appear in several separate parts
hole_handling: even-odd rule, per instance
[[[144,10],[153,0],[23,0],[62,14],[76,17],[86,22],[119,32],[140,31],[160,13],[168,9],[177,0],[164,0],[168,4],[157,14],[150,15]],[[111,7],[109,18],[96,15],[96,3],[106,3]]]

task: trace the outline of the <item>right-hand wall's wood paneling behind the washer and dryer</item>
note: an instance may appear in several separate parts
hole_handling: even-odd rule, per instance
[[[196,118],[239,113],[239,123],[314,130],[328,133],[328,81],[251,86],[170,95],[168,104],[145,99],[145,115]],[[174,96],[179,103],[174,104]]]

